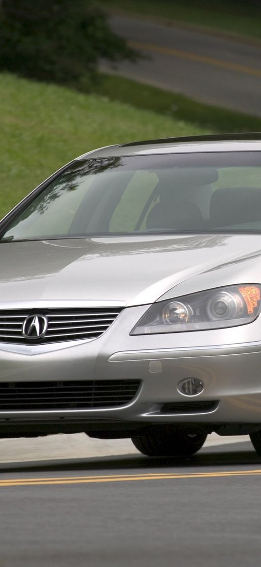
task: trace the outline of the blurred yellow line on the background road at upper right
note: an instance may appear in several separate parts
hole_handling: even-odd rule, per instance
[[[213,65],[215,67],[221,67],[222,69],[227,69],[229,71],[236,71],[237,73],[254,75],[254,77],[261,77],[261,69],[255,69],[254,67],[247,67],[245,65],[238,65],[237,63],[230,63],[229,61],[216,59],[214,57],[189,53],[181,49],[172,49],[169,47],[163,47],[161,45],[155,45],[143,41],[129,41],[129,45],[137,49],[161,53],[162,55],[171,55],[173,57],[178,57],[179,59],[187,59],[189,61],[196,61],[197,63],[204,63],[207,65]]]

